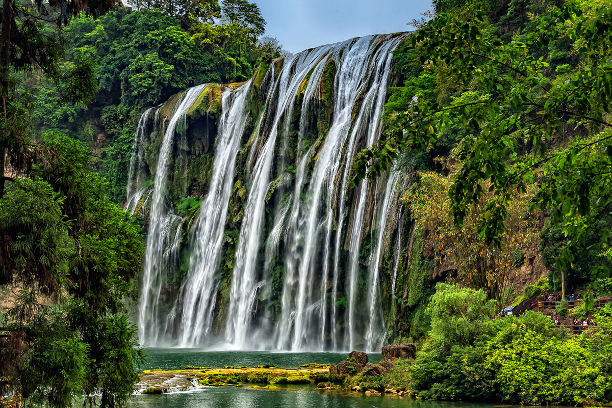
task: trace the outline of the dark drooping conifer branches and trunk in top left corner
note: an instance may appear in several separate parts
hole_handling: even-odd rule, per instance
[[[112,10],[120,1],[115,0],[54,0],[44,4],[42,0],[20,2],[3,0],[0,23],[0,199],[4,195],[7,178],[6,163],[15,170],[23,168],[23,153],[28,145],[26,109],[15,101],[16,82],[13,73],[42,71],[49,81],[56,84],[62,101],[87,103],[95,93],[95,75],[91,59],[77,56],[61,69],[64,46],[58,32],[49,29],[66,24],[72,16],[83,12],[102,15]]]

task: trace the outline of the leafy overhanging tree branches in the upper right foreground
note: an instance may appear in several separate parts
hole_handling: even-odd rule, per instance
[[[486,97],[446,106],[411,101],[390,118],[390,137],[357,158],[356,177],[379,174],[400,151],[431,147],[443,129],[461,123],[468,131],[457,153],[463,167],[449,187],[455,223],[461,227],[479,205],[485,191],[477,186],[488,181],[493,194],[478,231],[499,246],[513,192],[537,183],[534,208],[562,225],[567,239],[556,265],[561,269],[581,255],[591,225],[612,209],[612,7],[583,12],[565,2],[533,16],[529,29],[509,42],[487,27],[482,12],[471,10],[465,20],[441,13],[412,35],[422,63],[443,62],[463,89]],[[553,71],[547,59],[559,37],[580,60]],[[610,228],[602,229],[601,242],[609,235]],[[612,258],[605,245],[589,250]],[[608,273],[605,265],[599,272]]]

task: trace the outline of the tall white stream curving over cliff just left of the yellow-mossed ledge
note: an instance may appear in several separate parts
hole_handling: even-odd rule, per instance
[[[181,96],[176,111],[171,116],[163,135],[162,147],[157,159],[154,191],[149,211],[149,230],[147,249],[144,255],[143,282],[139,302],[138,336],[147,346],[155,346],[160,337],[159,301],[162,291],[162,277],[169,266],[176,261],[177,249],[181,240],[182,218],[174,214],[165,189],[170,170],[170,159],[174,145],[174,133],[179,121],[200,97],[206,85],[190,88]],[[182,126],[185,131],[185,126]]]

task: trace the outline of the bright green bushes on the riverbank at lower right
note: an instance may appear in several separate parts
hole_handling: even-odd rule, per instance
[[[465,302],[461,308],[458,298]],[[428,308],[431,338],[408,368],[414,395],[521,404],[612,400],[612,307],[596,313],[597,326],[573,336],[532,311],[476,318],[473,312],[487,310],[489,302],[482,291],[438,285]]]

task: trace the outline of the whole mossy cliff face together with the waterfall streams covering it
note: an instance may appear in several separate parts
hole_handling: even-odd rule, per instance
[[[453,271],[427,252],[401,200],[411,169],[349,182],[354,155],[382,133],[401,40],[264,61],[246,84],[207,85],[143,115],[127,208],[150,233],[145,344],[371,350],[425,333],[433,285]],[[155,189],[165,204],[152,206]],[[156,253],[151,241],[162,242]]]

